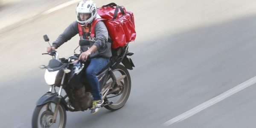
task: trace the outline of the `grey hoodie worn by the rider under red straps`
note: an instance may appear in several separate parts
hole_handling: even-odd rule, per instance
[[[71,23],[64,32],[58,36],[56,41],[52,42],[52,46],[55,48],[60,47],[65,42],[69,41],[73,38],[76,34],[79,33],[77,21]],[[112,56],[111,53],[111,43],[108,42],[108,30],[105,24],[102,21],[98,21],[95,25],[95,45],[98,50],[90,55],[91,58],[93,57],[105,57],[110,58]],[[86,46],[81,46],[80,51],[85,52],[88,49]]]

